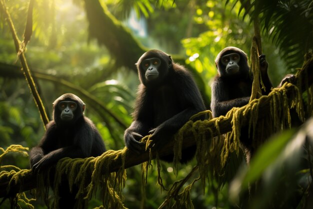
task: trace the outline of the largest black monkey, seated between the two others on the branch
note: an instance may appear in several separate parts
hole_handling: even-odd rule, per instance
[[[189,118],[204,111],[200,92],[189,72],[174,63],[171,57],[159,50],[144,53],[136,63],[139,80],[133,122],[125,130],[124,142],[128,149],[140,153],[145,143],[139,140],[152,134],[152,148],[158,150],[171,140],[172,135]],[[182,150],[185,163],[195,153],[195,146]],[[172,161],[173,155],[160,159]]]

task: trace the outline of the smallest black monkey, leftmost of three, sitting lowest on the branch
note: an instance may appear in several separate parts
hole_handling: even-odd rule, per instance
[[[83,115],[85,104],[74,94],[63,94],[53,102],[53,120],[39,144],[30,150],[30,166],[37,174],[63,157],[96,157],[105,152],[104,142],[92,121]],[[59,188],[59,208],[73,208],[75,194],[67,185]],[[52,184],[53,185],[53,184]]]

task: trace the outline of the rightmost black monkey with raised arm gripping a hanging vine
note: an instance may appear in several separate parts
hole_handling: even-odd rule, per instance
[[[262,95],[268,95],[273,87],[268,74],[268,64],[265,55],[259,56],[260,73],[265,90],[262,89]],[[211,111],[213,117],[226,115],[232,107],[241,107],[246,105],[251,96],[253,75],[250,74],[250,68],[247,63],[247,55],[236,47],[226,47],[215,59],[215,65],[218,75],[215,76],[211,85]],[[279,87],[285,82],[292,82],[294,75],[287,75],[279,84]],[[248,136],[248,128],[243,127],[240,131],[240,142],[244,147],[247,162],[254,153],[251,146],[251,140]]]

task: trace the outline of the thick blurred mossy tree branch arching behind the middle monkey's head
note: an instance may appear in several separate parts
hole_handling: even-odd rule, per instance
[[[104,45],[110,55],[115,59],[117,67],[124,66],[137,73],[135,63],[139,57],[149,49],[142,46],[131,35],[128,28],[124,27],[108,11],[104,4],[98,0],[84,0],[87,20],[89,22],[89,36],[97,40],[99,45]],[[174,62],[184,65],[193,74],[194,80],[202,93],[205,105],[209,105],[209,98],[206,95],[206,84],[200,74],[190,65],[186,65],[185,57],[172,55]]]

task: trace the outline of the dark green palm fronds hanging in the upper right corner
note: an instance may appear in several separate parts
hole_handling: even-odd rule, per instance
[[[237,2],[237,1],[235,1]],[[290,69],[300,67],[305,53],[313,50],[313,3],[311,0],[240,0],[244,16],[259,18],[262,33],[279,48]],[[241,11],[240,11],[241,12]]]

